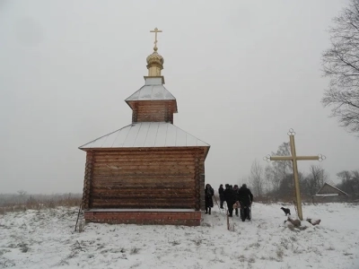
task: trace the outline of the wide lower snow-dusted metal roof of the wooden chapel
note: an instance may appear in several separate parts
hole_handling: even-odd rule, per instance
[[[171,123],[139,122],[101,136],[79,149],[192,146],[209,147],[209,144]]]

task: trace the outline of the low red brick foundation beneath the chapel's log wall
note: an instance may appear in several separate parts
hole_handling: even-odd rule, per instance
[[[201,212],[85,211],[86,222],[199,226]]]

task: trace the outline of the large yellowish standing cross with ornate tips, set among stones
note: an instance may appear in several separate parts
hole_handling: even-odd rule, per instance
[[[264,157],[265,161],[292,161],[293,163],[293,176],[294,176],[294,187],[295,187],[295,197],[297,202],[298,217],[302,221],[302,199],[301,199],[301,189],[299,187],[299,177],[298,177],[298,165],[297,161],[304,160],[315,160],[315,161],[324,161],[326,157],[319,154],[318,156],[297,156],[295,153],[295,144],[294,144],[294,135],[295,132],[293,129],[289,129],[288,132],[289,141],[291,144],[291,153],[292,156],[270,156],[267,155]]]

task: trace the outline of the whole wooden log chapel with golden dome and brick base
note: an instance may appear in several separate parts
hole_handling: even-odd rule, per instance
[[[152,32],[144,86],[125,100],[132,123],[79,147],[85,221],[200,225],[210,146],[173,125],[177,101],[163,86],[161,31]]]

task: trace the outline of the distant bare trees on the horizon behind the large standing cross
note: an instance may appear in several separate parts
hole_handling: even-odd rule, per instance
[[[290,144],[282,143],[276,152],[276,156],[290,156]],[[311,165],[309,171],[299,171],[299,181],[302,199],[311,199],[320,187],[328,181],[328,173],[320,165]],[[351,195],[359,197],[359,169],[354,171],[341,171],[337,173],[340,183],[335,187]],[[250,176],[248,178],[250,187],[257,197],[271,200],[292,201],[294,197],[294,180],[292,161],[272,161],[267,166],[258,160],[252,162]]]

